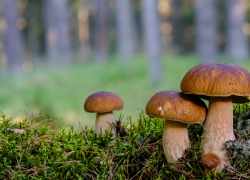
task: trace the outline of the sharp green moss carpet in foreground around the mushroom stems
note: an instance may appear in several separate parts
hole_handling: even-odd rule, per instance
[[[97,136],[88,128],[55,130],[50,121],[48,116],[40,116],[13,123],[4,115],[0,117],[0,179],[250,178],[249,155],[232,157],[234,169],[221,173],[202,167],[200,125],[189,127],[192,148],[174,165],[163,154],[164,124],[160,119],[140,114],[127,121],[123,137]]]

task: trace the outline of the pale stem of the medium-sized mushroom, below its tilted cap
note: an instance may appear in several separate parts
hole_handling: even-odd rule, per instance
[[[166,121],[162,144],[167,161],[175,163],[190,147],[187,126],[179,122]]]

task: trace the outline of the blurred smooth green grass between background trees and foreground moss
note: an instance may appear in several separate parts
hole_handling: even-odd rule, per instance
[[[0,111],[16,117],[16,121],[45,112],[59,124],[93,126],[95,115],[83,112],[83,101],[95,91],[106,90],[124,99],[124,110],[118,114],[135,116],[156,91],[178,90],[184,73],[199,63],[193,56],[168,56],[163,59],[161,83],[152,86],[146,59],[136,57],[129,65],[117,61],[71,65],[60,70],[40,68],[18,77],[1,76]],[[249,63],[244,66],[250,67]]]

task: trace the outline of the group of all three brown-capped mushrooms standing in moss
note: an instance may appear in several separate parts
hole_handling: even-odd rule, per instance
[[[233,103],[250,100],[250,73],[236,65],[202,64],[184,75],[180,87],[181,92],[154,94],[146,105],[150,117],[165,120],[162,144],[167,161],[175,163],[190,147],[187,125],[204,122],[202,164],[215,171],[230,166],[225,143],[235,140]],[[209,101],[208,108],[200,98]],[[84,104],[85,111],[96,113],[97,134],[114,131],[113,111],[122,108],[122,99],[111,92],[96,92]]]

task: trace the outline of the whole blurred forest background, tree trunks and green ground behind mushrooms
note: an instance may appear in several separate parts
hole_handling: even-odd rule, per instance
[[[0,111],[93,125],[83,100],[108,90],[135,115],[195,64],[250,69],[249,43],[250,0],[1,0]]]

